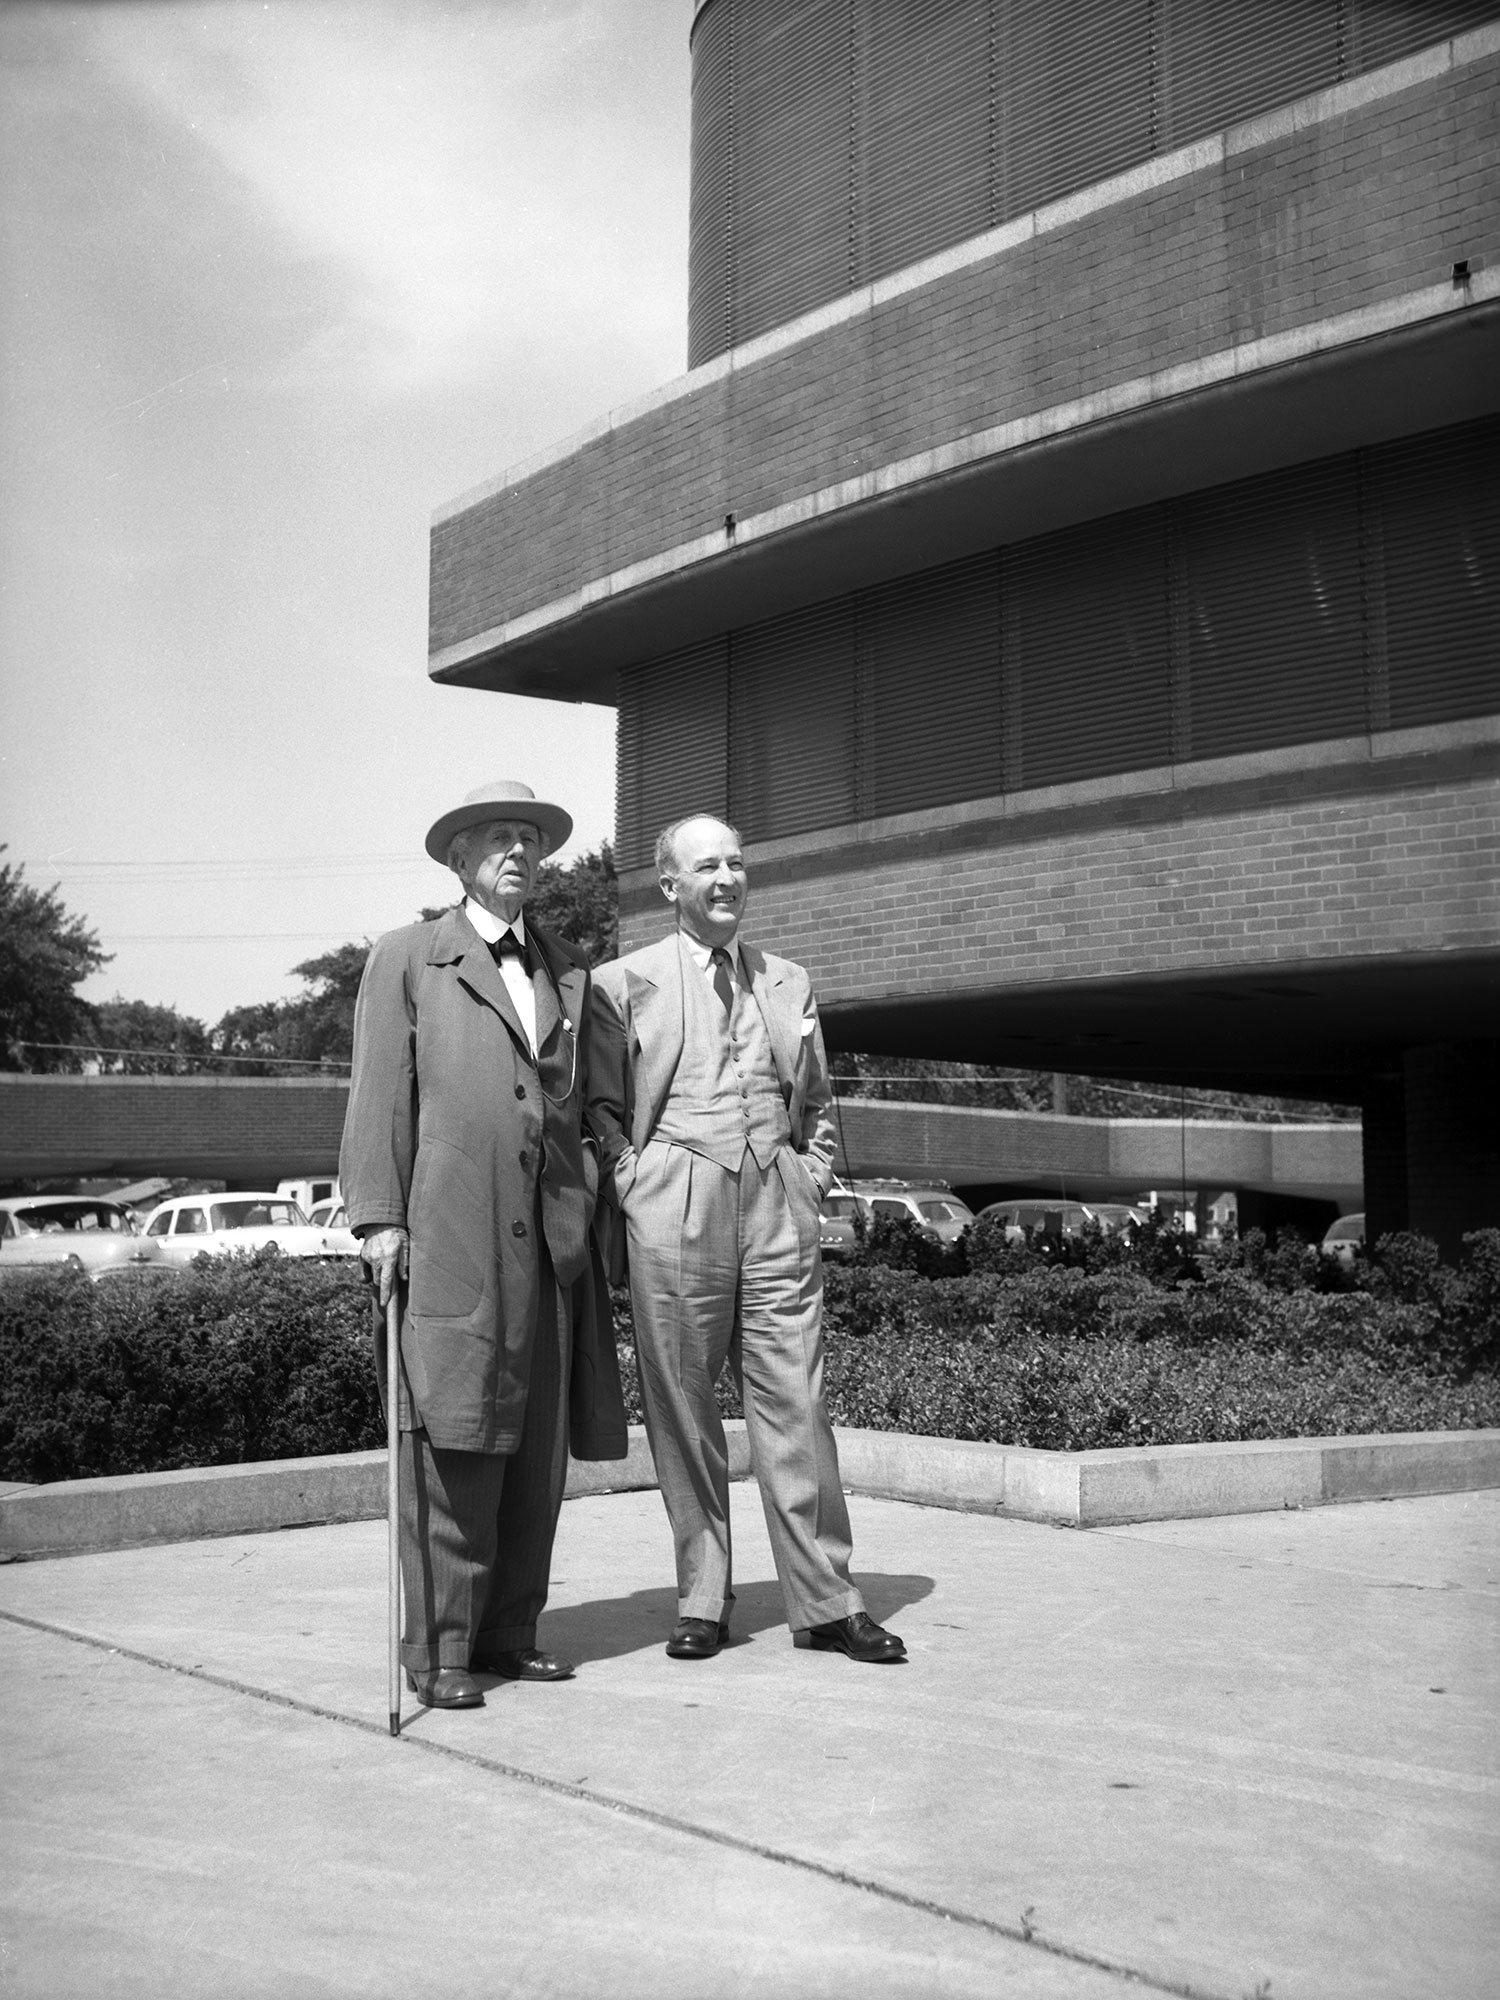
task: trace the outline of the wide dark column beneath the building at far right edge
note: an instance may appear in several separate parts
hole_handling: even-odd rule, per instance
[[[1500,1042],[1408,1048],[1404,1070],[1408,1226],[1456,1260],[1466,1230],[1500,1226]]]

